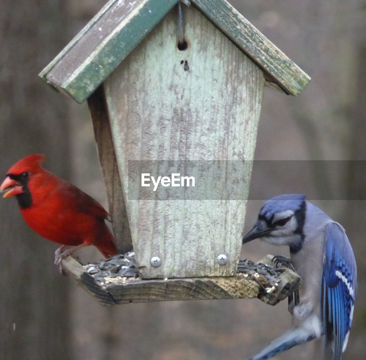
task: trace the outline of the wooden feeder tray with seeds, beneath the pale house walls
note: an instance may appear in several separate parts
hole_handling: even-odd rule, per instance
[[[95,274],[91,275],[87,269],[93,265],[98,269],[98,264],[82,265],[69,256],[63,260],[63,266],[87,292],[104,305],[255,297],[266,304],[276,305],[299,289],[301,279],[290,268],[273,266],[272,259],[273,255],[267,255],[258,263],[239,260],[236,276],[209,278],[147,280],[138,277],[137,268],[131,268],[131,271],[126,272],[129,273],[128,276],[106,276],[104,280],[100,277],[97,280]],[[103,263],[105,262],[100,264]],[[276,277],[279,278],[277,285],[274,283]]]

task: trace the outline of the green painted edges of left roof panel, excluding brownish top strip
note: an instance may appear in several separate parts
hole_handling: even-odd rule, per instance
[[[78,35],[41,71],[39,76],[57,90],[68,94],[78,103],[85,101],[108,77],[120,62],[138,43],[157,25],[179,0],[145,0],[134,10],[129,21],[108,41],[102,42],[88,57],[88,62],[81,64],[63,83],[52,79],[52,70],[57,66],[87,31],[93,31],[93,25],[117,0],[109,1]]]

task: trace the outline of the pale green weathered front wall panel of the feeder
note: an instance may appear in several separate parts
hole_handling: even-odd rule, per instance
[[[172,10],[104,83],[143,278],[234,275],[242,244],[264,75],[195,7],[186,9],[185,34],[189,47],[179,51]],[[143,191],[137,200],[129,160],[179,160],[158,169],[167,174],[184,169],[184,160],[250,161],[214,171],[201,161],[197,182],[205,186],[197,200],[175,197],[171,188],[168,200]],[[221,196],[239,187],[242,197]],[[220,254],[227,265],[217,264]],[[150,266],[152,256],[160,267]]]

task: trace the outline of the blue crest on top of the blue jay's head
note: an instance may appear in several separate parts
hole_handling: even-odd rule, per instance
[[[304,194],[283,194],[275,196],[264,203],[261,211],[259,211],[259,216],[269,221],[276,213],[287,210],[294,212],[299,210],[304,201]]]

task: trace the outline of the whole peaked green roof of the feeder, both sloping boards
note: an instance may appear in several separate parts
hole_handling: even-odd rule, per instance
[[[179,0],[109,0],[40,77],[82,103]],[[266,79],[297,95],[310,81],[294,62],[226,0],[191,0],[250,57]]]

